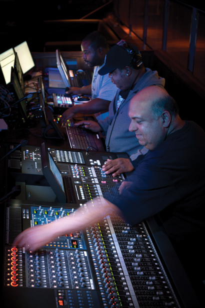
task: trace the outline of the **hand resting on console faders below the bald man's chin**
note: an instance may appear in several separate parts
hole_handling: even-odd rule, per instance
[[[113,176],[132,170],[134,170],[134,167],[128,158],[107,159],[107,163],[102,166],[102,171],[105,171],[106,174],[114,172],[112,173]]]

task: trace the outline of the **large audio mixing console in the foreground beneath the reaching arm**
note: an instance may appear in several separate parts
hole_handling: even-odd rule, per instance
[[[157,241],[157,245],[152,241],[152,235],[161,241],[161,233],[157,231],[155,234],[155,229],[152,228],[150,231],[150,222],[148,225],[145,221],[129,226],[113,214],[88,225],[84,230],[73,230],[72,233],[54,238],[35,253],[30,253],[25,248],[11,248],[13,240],[22,230],[62,219],[92,198],[97,198],[100,202],[100,196],[106,197],[110,188],[118,187],[124,179],[123,175],[106,175],[101,166],[108,158],[114,159],[121,155],[126,157],[125,154],[85,153],[57,148],[46,149],[45,146],[44,150],[51,156],[51,160],[48,159],[52,161],[51,165],[54,162],[57,166],[55,171],[64,179],[69,178],[69,198],[66,198],[64,203],[60,203],[57,197],[51,202],[47,201],[49,193],[45,188],[51,187],[47,187],[48,182],[43,184],[45,186],[38,184],[42,179],[45,180],[45,153],[42,145],[41,149],[28,146],[10,154],[8,166],[17,184],[19,180],[21,183],[25,181],[25,186],[26,182],[31,182],[29,189],[31,186],[36,187],[36,191],[27,189],[24,198],[20,194],[6,205],[4,306],[197,306],[192,303],[195,301],[195,295],[192,295],[193,291],[186,276],[184,279],[181,264],[178,264],[178,259],[176,260],[175,254],[171,252],[173,247],[167,244],[167,240],[164,243],[163,235],[162,244],[160,243],[162,249]],[[43,193],[42,199],[40,189]],[[163,255],[162,259],[156,250],[158,247]],[[167,250],[164,250],[165,247]],[[170,255],[173,256],[171,266]],[[164,262],[168,269],[164,267]],[[170,277],[174,283],[170,283]]]

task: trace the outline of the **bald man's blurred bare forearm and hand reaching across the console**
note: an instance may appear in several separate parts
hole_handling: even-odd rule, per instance
[[[88,201],[86,205],[83,205],[69,216],[58,218],[48,224],[27,228],[15,238],[13,246],[25,247],[25,249],[35,251],[53,238],[64,235],[67,232],[80,230],[110,214],[112,211],[120,212],[118,207],[111,202],[103,198],[95,198],[92,201]]]

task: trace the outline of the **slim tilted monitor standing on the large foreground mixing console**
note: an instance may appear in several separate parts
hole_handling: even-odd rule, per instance
[[[54,162],[52,155],[48,151],[45,143],[40,146],[40,156],[42,163],[42,172],[50,187],[56,194],[60,202],[66,202],[65,189],[62,180],[62,174]]]

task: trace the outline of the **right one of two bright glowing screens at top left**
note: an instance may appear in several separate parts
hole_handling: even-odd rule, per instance
[[[28,48],[26,41],[15,46],[14,50],[18,54],[18,59],[19,59],[23,74],[35,66],[33,59],[32,59],[32,55],[30,53],[30,50]]]

